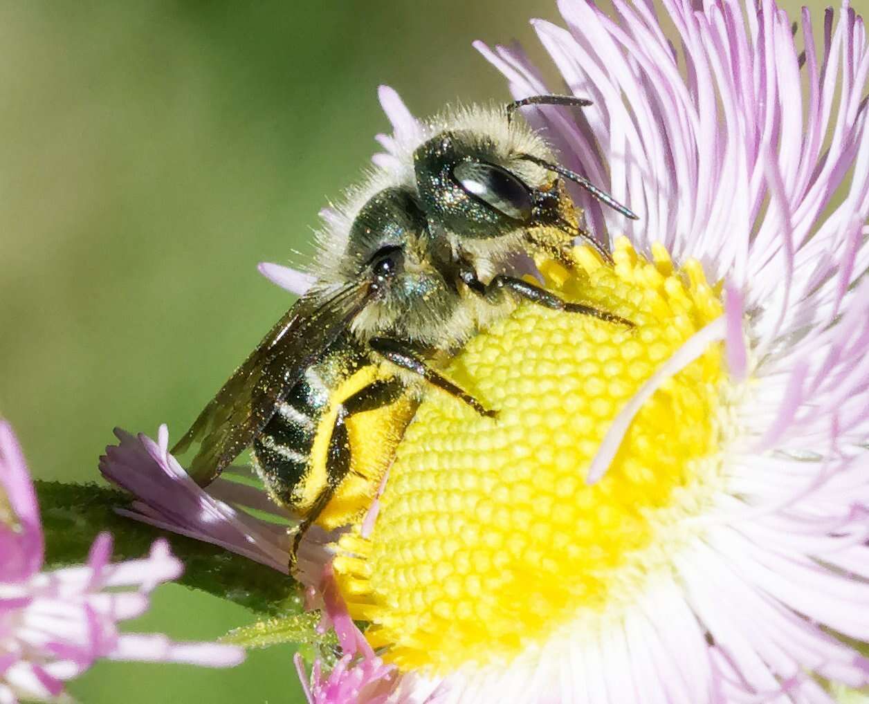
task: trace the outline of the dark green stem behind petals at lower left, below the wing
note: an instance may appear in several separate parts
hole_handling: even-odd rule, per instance
[[[302,611],[298,584],[274,569],[192,538],[156,530],[118,516],[114,509],[129,495],[97,484],[63,484],[36,480],[45,531],[45,566],[49,569],[83,563],[90,544],[103,530],[114,538],[113,559],[129,560],[148,553],[165,537],[184,563],[177,582],[241,604],[261,615],[286,616]]]

